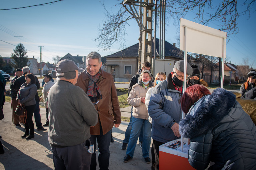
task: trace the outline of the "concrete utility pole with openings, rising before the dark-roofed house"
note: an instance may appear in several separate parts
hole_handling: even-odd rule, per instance
[[[129,5],[131,12],[140,27],[140,31],[142,32],[141,58],[138,60],[138,68],[141,68],[141,63],[145,61],[151,63],[152,59],[153,0],[144,0],[143,2],[135,0],[124,0],[123,4]],[[143,7],[142,21],[141,16],[138,14],[135,6]]]

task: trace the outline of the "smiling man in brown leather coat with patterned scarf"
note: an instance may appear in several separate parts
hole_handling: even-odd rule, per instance
[[[90,128],[90,140],[96,150],[99,148],[99,167],[108,170],[111,129],[121,123],[121,112],[115,83],[110,73],[101,69],[101,55],[90,52],[86,59],[86,69],[79,74],[76,85],[81,87],[98,111],[98,124]],[[90,170],[96,170],[96,153],[92,154]]]

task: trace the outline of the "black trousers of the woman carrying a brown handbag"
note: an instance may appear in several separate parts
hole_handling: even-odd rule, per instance
[[[34,123],[33,123],[33,112],[36,105],[25,106],[27,111],[27,120],[25,123],[26,134],[34,135]]]

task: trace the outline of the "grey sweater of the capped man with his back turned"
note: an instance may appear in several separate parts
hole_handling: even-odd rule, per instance
[[[98,122],[97,110],[78,86],[57,81],[47,96],[50,144],[74,146],[90,138],[90,126]]]

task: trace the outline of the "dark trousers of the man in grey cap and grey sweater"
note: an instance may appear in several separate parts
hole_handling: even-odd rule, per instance
[[[55,170],[89,170],[92,154],[87,151],[86,141],[74,146],[52,148]]]

